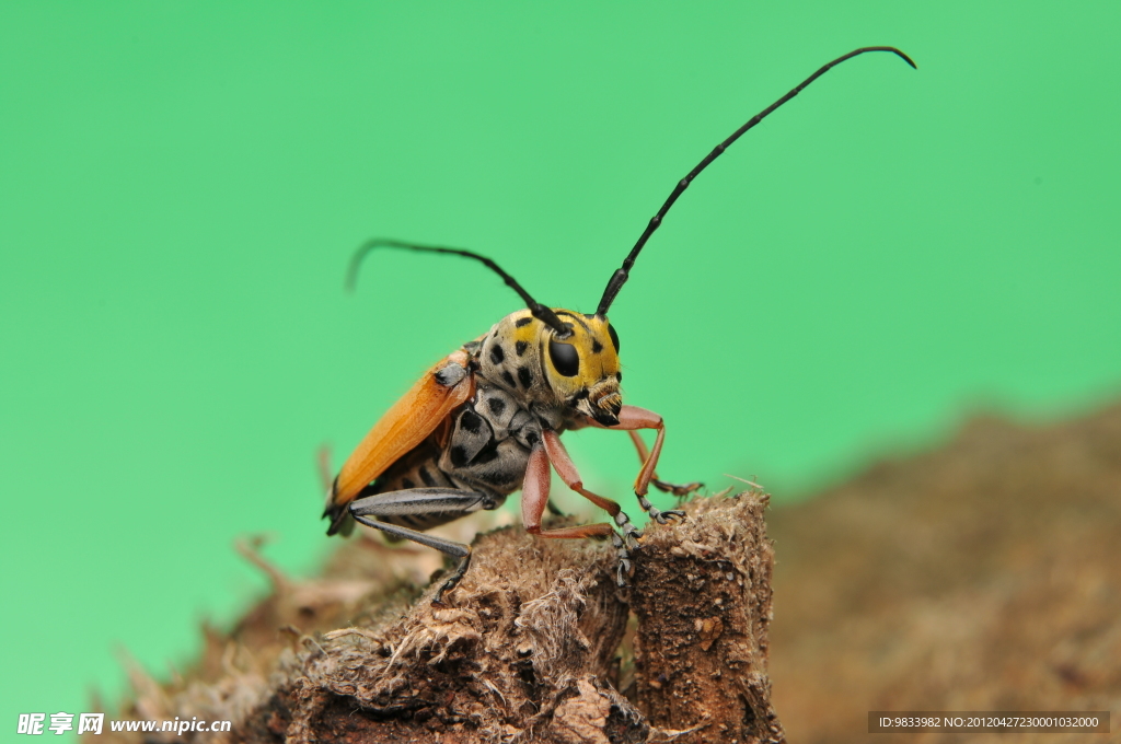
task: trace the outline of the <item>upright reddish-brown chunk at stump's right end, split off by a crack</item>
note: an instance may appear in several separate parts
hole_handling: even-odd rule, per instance
[[[775,554],[766,497],[692,504],[673,530],[650,530],[631,606],[640,708],[677,742],[781,742],[770,704],[767,630]]]

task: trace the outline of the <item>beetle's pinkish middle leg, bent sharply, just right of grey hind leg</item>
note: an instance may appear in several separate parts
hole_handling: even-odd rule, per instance
[[[555,437],[556,435],[554,434],[553,436]],[[537,445],[529,454],[529,464],[526,467],[526,480],[521,486],[521,520],[526,524],[526,531],[530,534],[537,534],[543,538],[591,538],[605,537],[610,534],[611,545],[614,546],[615,552],[619,557],[619,565],[615,570],[615,580],[619,586],[627,586],[627,575],[631,569],[630,552],[627,550],[628,542],[631,543],[631,547],[638,548],[637,538],[641,537],[642,533],[634,529],[634,527],[630,523],[630,519],[628,519],[627,514],[623,514],[622,510],[619,508],[619,504],[610,499],[597,496],[590,491],[580,491],[582,495],[587,496],[593,503],[614,517],[615,524],[624,530],[627,542],[624,542],[623,538],[620,538],[619,533],[615,532],[614,529],[606,522],[600,522],[597,524],[577,524],[575,527],[560,527],[552,530],[541,529],[541,514],[545,512],[545,505],[549,500],[550,456],[547,453],[547,447],[548,445],[545,447]],[[571,465],[571,461],[568,462]],[[556,467],[555,463],[554,467]],[[559,473],[559,471],[557,472]],[[573,472],[575,472],[575,468],[573,468]]]

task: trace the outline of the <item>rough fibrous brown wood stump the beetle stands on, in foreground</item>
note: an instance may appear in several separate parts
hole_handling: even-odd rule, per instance
[[[275,594],[229,635],[209,631],[186,679],[133,670],[126,715],[233,722],[206,742],[779,742],[766,505],[698,500],[684,523],[650,526],[628,589],[606,542],[497,530],[446,606],[387,571],[407,547],[353,540],[306,584],[245,548]]]

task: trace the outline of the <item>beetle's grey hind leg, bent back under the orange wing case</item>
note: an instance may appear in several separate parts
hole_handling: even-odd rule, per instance
[[[498,501],[485,493],[476,491],[407,489],[405,491],[379,493],[353,501],[350,504],[350,513],[351,517],[367,527],[372,527],[382,532],[435,548],[445,556],[460,558],[460,565],[456,566],[452,575],[436,590],[436,596],[433,597],[433,603],[443,604],[444,593],[454,588],[460,583],[463,574],[467,570],[467,566],[471,564],[471,546],[371,518],[397,517],[404,518],[402,521],[407,522],[411,515],[429,514],[432,512],[462,512],[467,514],[480,509],[494,509],[498,506]]]

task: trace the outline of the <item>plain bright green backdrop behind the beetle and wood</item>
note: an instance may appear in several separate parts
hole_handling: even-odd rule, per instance
[[[396,6],[397,3],[395,3]],[[1121,391],[1117,3],[0,4],[0,700],[115,699],[311,570],[336,463],[519,307],[589,310],[677,178],[717,160],[612,309],[661,473],[777,500],[969,411]],[[566,437],[627,496],[627,437]],[[1060,494],[1056,494],[1060,497]],[[571,503],[571,502],[569,502]],[[633,511],[633,506],[631,506]],[[779,612],[781,610],[779,608]]]

